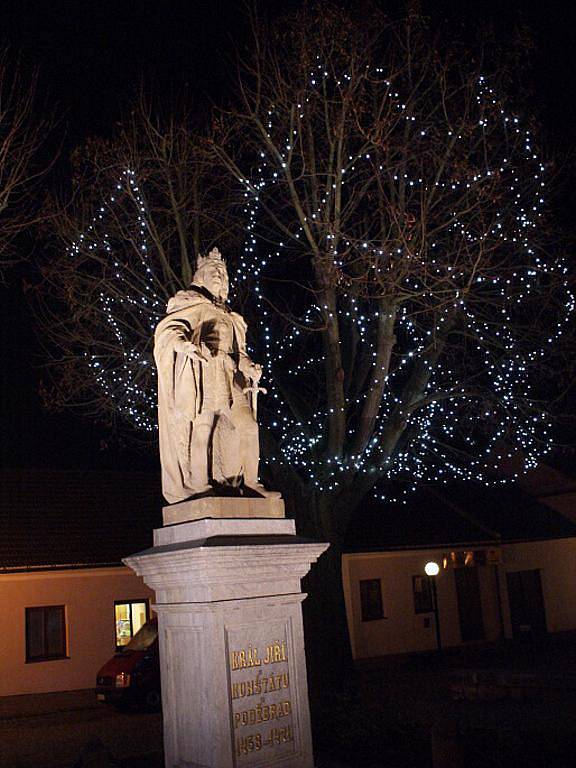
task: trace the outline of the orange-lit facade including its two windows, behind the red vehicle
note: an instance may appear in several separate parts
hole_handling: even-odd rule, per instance
[[[0,696],[94,687],[153,601],[124,566],[1,574]]]

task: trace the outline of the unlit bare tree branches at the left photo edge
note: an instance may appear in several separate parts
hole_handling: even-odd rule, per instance
[[[40,150],[53,121],[9,47],[0,48],[0,278],[17,260],[14,240],[37,220],[35,191],[51,165]]]

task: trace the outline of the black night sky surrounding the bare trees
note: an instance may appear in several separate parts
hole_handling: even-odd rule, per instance
[[[231,52],[244,44],[243,2],[225,0],[0,0],[0,39],[37,66],[47,99],[64,114],[64,156],[90,135],[106,134],[144,75],[164,94],[186,87],[199,108],[218,100]],[[263,5],[269,13],[296,0]],[[360,5],[358,6],[360,8]],[[384,3],[384,8],[390,4]],[[576,5],[520,0],[427,0],[434,22],[468,29],[492,23],[506,45],[523,22],[535,43],[530,88],[548,144],[576,149]],[[360,11],[359,11],[360,12]],[[576,214],[576,197],[564,215]],[[12,466],[116,464],[102,451],[102,429],[40,407],[37,343],[21,292],[21,274],[0,287],[0,460]],[[146,463],[132,452],[127,462]]]

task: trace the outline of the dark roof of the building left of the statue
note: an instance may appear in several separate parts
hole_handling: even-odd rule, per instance
[[[119,565],[162,524],[159,478],[140,472],[0,471],[0,572]]]

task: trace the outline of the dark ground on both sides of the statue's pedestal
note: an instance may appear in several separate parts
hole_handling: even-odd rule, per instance
[[[575,721],[574,635],[381,661],[317,718],[316,768],[574,768]],[[163,768],[161,715],[0,698],[0,768]]]

